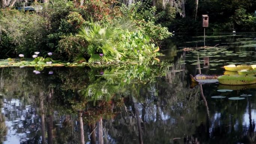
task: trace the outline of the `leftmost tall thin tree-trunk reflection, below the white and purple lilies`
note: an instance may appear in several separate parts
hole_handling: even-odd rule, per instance
[[[45,143],[45,110],[43,105],[43,92],[40,92],[40,111],[41,111],[41,126],[42,126],[42,144]]]

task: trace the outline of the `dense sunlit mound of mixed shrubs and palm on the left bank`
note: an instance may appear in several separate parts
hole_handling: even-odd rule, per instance
[[[156,8],[146,2],[126,6],[113,0],[52,0],[34,12],[1,9],[0,55],[33,52],[74,62],[109,63],[154,56],[159,40],[171,36],[155,24]],[[132,12],[131,12],[132,11]]]

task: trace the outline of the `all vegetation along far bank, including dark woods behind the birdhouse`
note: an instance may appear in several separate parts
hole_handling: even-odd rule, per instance
[[[202,14],[211,19],[207,31],[256,30],[255,1],[222,2],[221,6],[219,2],[0,0],[0,59],[35,58],[34,52],[46,58],[50,52],[53,63],[143,61],[161,55],[161,41],[173,33],[201,31]],[[25,11],[24,6],[33,10]]]

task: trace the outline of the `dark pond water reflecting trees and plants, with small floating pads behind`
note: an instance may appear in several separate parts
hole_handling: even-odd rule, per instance
[[[255,38],[208,34],[205,45],[215,47],[183,51],[203,46],[203,37],[176,35],[162,43],[160,62],[118,67],[0,68],[0,143],[255,143],[256,85],[189,78],[256,64]]]

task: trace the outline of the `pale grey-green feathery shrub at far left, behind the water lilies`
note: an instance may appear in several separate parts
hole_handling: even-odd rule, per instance
[[[24,13],[15,9],[1,9],[0,18],[1,47],[15,46],[14,53],[24,53],[42,49],[45,45],[46,21],[35,13]],[[6,44],[10,43],[10,44]]]

